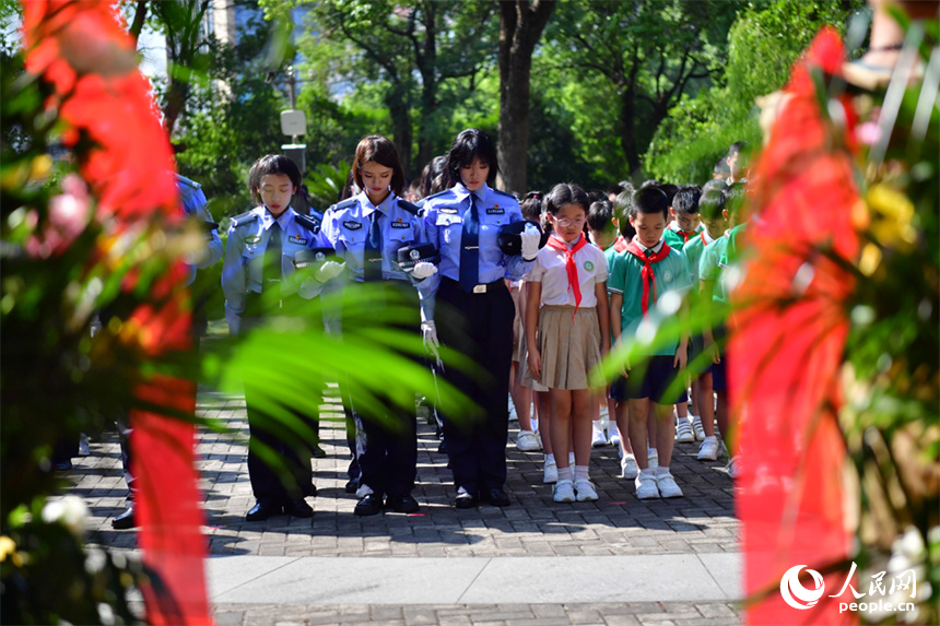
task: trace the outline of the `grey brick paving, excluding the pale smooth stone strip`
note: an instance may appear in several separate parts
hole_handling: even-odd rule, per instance
[[[596,448],[591,479],[596,503],[556,504],[541,482],[540,452],[508,450],[507,493],[513,506],[457,510],[447,459],[438,454],[434,428],[420,421],[418,485],[420,513],[385,513],[357,518],[355,497],[343,492],[348,450],[336,397],[328,397],[321,425],[326,459],[314,461],[319,496],[308,498],[310,520],[277,517],[249,523],[252,504],[244,439],[200,429],[198,454],[205,495],[211,555],[280,557],[533,557],[713,555],[739,550],[739,523],[733,517],[732,486],[721,463],[695,459],[696,444],[677,444],[673,474],[684,498],[637,500],[632,481],[619,477],[613,447]],[[247,435],[244,399],[202,390],[198,411]],[[515,430],[510,435],[515,436]],[[79,459],[70,474],[74,492],[92,511],[93,542],[136,547],[132,531],[114,531],[110,518],[124,508],[125,485],[116,435],[92,442],[92,456]],[[420,562],[415,562],[416,564]],[[606,563],[597,559],[590,563]],[[532,571],[538,576],[538,571]],[[668,582],[666,582],[668,584]],[[630,580],[574,580],[576,586],[610,589],[610,604],[326,605],[216,604],[221,624],[324,624],[378,622],[388,624],[736,624],[739,609],[728,602],[616,603],[618,589]]]

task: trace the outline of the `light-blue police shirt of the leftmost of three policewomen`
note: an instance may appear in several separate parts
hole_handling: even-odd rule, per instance
[[[274,221],[266,206],[257,206],[244,215],[233,217],[228,227],[225,261],[222,263],[222,291],[225,294],[225,320],[235,333],[240,327],[246,294],[261,293],[265,249]],[[304,288],[298,290],[298,285],[290,279],[294,273],[293,261],[298,250],[330,247],[322,234],[320,221],[315,215],[301,215],[289,206],[277,222],[281,226],[282,293],[297,293],[307,299],[316,297],[322,291],[322,285],[317,281],[309,279],[304,282]]]

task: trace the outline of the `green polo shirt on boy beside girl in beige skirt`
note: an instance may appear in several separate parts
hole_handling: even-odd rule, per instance
[[[668,257],[653,264],[653,275],[656,277],[656,293],[649,294],[650,310],[667,293],[686,292],[692,286],[689,270],[685,267],[685,257],[674,248],[670,250]],[[621,333],[636,334],[636,328],[643,320],[643,261],[625,250],[616,255],[610,269],[607,288],[610,293],[623,295],[620,310]],[[678,347],[677,340],[660,345],[650,354],[672,356]]]

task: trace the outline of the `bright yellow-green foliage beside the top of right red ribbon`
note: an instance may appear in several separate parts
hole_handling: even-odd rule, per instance
[[[844,32],[860,0],[776,0],[750,5],[728,33],[728,62],[718,84],[677,103],[644,157],[646,170],[670,182],[702,184],[736,141],[760,145],[755,98],[780,88],[790,67],[824,25]]]

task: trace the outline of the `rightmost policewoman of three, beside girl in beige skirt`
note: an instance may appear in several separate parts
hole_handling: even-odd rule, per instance
[[[481,378],[456,367],[444,374],[479,405],[462,420],[444,417],[458,508],[474,507],[480,499],[495,506],[509,504],[504,491],[506,398],[515,307],[504,279],[522,277],[541,238],[538,228],[528,225],[520,235],[521,255],[507,256],[500,248],[501,228],[522,220],[522,213],[515,197],[487,185],[496,170],[496,149],[490,138],[478,129],[465,130],[447,155],[445,175],[450,188],[424,203],[427,237],[440,250],[439,273],[428,279],[432,297],[422,307],[425,345],[437,356],[444,343],[489,375]]]

